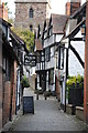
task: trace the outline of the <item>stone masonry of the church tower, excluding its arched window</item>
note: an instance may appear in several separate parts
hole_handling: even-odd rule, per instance
[[[33,9],[34,17],[29,17],[30,9]],[[15,27],[23,27],[30,29],[32,24],[33,28],[37,28],[38,24],[43,24],[47,16],[47,3],[15,3]],[[47,16],[48,17],[48,16]]]

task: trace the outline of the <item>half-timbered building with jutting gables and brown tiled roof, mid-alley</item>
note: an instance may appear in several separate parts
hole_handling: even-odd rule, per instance
[[[43,32],[35,40],[37,89],[55,92],[58,73],[58,54],[56,45],[64,37],[66,16],[52,14],[48,22],[44,22]],[[63,22],[63,23],[62,23]]]

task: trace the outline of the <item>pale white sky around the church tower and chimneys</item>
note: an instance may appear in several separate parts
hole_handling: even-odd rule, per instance
[[[1,0],[2,2],[8,2],[8,7],[10,9],[10,12],[12,12],[10,16],[14,17],[15,12],[15,4],[14,0]],[[52,6],[52,12],[58,13],[58,14],[65,14],[65,3],[69,0],[51,0]],[[86,2],[86,0],[81,0],[81,4]]]

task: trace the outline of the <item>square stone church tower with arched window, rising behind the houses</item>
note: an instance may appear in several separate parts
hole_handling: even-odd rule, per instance
[[[33,31],[51,16],[51,0],[15,0],[14,27]]]

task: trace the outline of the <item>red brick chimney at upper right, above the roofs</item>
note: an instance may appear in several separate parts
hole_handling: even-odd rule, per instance
[[[81,0],[70,0],[66,3],[66,14],[72,16],[81,4]]]

